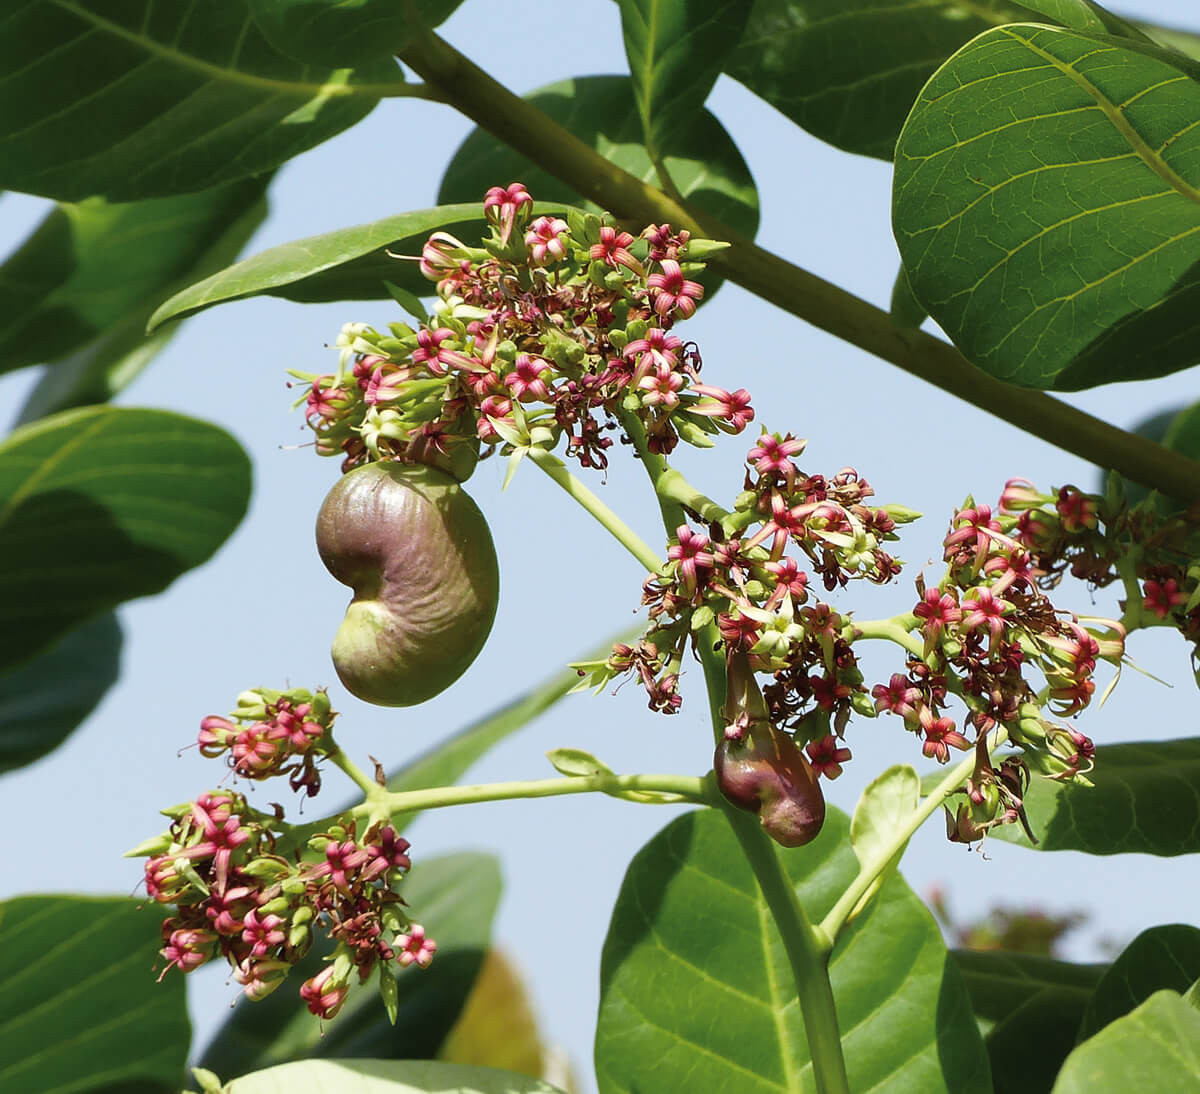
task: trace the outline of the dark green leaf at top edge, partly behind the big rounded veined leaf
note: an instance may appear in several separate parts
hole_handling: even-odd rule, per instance
[[[755,0],[725,71],[815,137],[890,160],[922,85],[994,26],[1140,32],[1088,0]]]

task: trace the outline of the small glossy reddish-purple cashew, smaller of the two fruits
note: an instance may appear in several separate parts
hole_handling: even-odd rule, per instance
[[[740,740],[721,740],[713,768],[726,799],[757,813],[776,843],[803,847],[817,837],[824,824],[824,794],[790,734],[769,722],[755,722]]]

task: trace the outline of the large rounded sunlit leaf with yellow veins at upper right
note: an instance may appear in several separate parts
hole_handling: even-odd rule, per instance
[[[992,375],[1076,390],[1200,359],[1200,84],[1181,54],[1012,25],[959,50],[896,144],[917,299]]]

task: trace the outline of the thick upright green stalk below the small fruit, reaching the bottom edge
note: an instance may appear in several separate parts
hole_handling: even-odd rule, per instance
[[[804,1034],[812,1057],[812,1075],[817,1094],[850,1094],[846,1062],[841,1052],[838,1009],[829,984],[832,943],[823,927],[809,922],[796,895],[796,888],[784,872],[775,844],[749,813],[726,806],[726,819],[742,844],[742,852],[754,870],[772,918],[784,939],[784,951],[792,966],[796,994],[804,1015]],[[796,1086],[790,1083],[790,1089]]]

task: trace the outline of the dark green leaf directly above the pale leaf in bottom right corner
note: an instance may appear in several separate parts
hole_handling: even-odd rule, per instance
[[[1099,1033],[1154,992],[1182,993],[1195,980],[1200,980],[1200,930],[1169,924],[1142,931],[1097,985],[1079,1026],[1079,1040]]]

